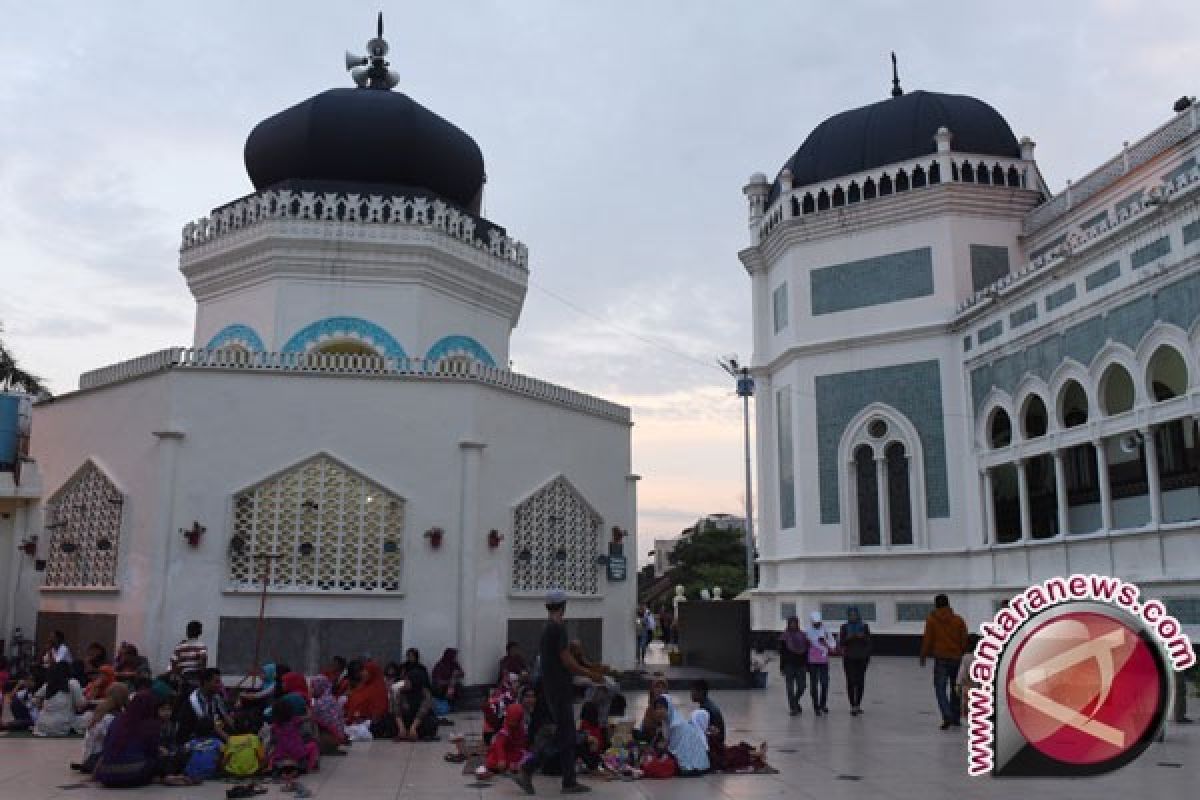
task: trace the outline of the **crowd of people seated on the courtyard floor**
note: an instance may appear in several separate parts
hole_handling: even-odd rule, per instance
[[[71,766],[106,787],[151,782],[188,786],[217,776],[246,778],[274,774],[287,788],[302,790],[295,777],[319,769],[320,757],[344,754],[355,740],[434,741],[446,714],[462,694],[457,651],[446,649],[432,670],[409,648],[402,662],[349,661],[335,656],[316,675],[268,663],[248,685],[227,687],[206,666],[199,624],[187,630],[170,668],[155,675],[128,643],[107,662],[94,644],[88,657],[72,661],[55,633],[42,666],[11,676],[0,658],[0,720],[7,730],[37,736],[83,734],[79,760]],[[575,660],[596,675],[611,675],[588,661],[572,642]],[[515,774],[536,762],[552,774],[558,759],[553,722],[516,643],[500,660],[498,681],[484,703],[486,757],[480,778]],[[622,778],[666,778],[713,770],[766,769],[766,745],[726,744],[725,720],[703,680],[691,686],[695,710],[685,714],[655,674],[638,726],[622,723],[625,699],[617,684],[580,679],[583,704],[576,735],[581,768]],[[449,762],[464,762],[463,736],[452,736]],[[257,787],[238,787],[251,796]]]

